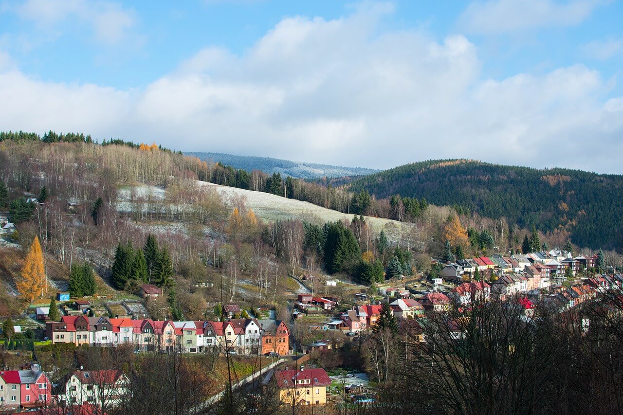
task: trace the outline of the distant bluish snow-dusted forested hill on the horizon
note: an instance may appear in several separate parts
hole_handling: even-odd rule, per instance
[[[224,153],[185,153],[204,161],[219,161],[223,165],[247,171],[261,170],[264,173],[281,173],[293,178],[316,179],[322,177],[362,176],[376,173],[378,170],[361,167],[343,167],[318,165],[316,163],[299,163],[298,161],[281,160],[278,158],[235,156]]]

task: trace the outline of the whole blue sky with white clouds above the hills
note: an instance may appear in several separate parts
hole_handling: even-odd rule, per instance
[[[623,173],[623,1],[0,0],[0,130]]]

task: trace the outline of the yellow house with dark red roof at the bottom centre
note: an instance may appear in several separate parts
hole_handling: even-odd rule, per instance
[[[331,379],[324,369],[278,370],[275,382],[279,399],[286,404],[324,405]]]

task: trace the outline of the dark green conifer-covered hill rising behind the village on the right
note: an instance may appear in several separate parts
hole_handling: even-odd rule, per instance
[[[338,183],[336,181],[336,183]],[[426,198],[543,232],[563,227],[579,246],[623,247],[623,176],[533,169],[473,160],[412,163],[353,179],[376,198]]]

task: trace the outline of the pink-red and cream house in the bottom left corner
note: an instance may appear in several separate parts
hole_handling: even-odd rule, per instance
[[[52,383],[39,365],[32,363],[29,370],[0,371],[2,408],[39,408],[50,404],[51,399]]]

